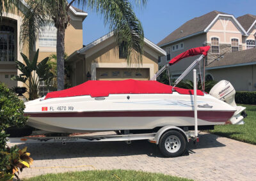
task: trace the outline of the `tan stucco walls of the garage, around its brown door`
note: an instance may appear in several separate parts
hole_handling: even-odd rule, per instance
[[[128,65],[126,59],[119,58],[118,45],[111,39],[112,38],[109,38],[109,40],[103,41],[100,45],[90,48],[90,50],[86,51],[84,59],[76,61],[77,57],[72,57],[72,59],[74,59],[74,62],[71,63],[74,70],[72,74],[73,85],[86,82],[86,74],[88,72],[92,75],[92,80],[96,80],[97,68],[147,68],[149,69],[150,77],[154,76],[158,71],[157,55],[155,55],[156,52],[150,47],[147,45],[144,47],[142,64],[138,65],[136,62],[132,61],[131,65]],[[132,57],[136,59],[135,52],[132,52]],[[81,62],[83,62],[83,64]],[[78,64],[79,68],[77,68]]]

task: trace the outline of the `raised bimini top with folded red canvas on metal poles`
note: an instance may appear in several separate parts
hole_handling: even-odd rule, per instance
[[[191,57],[195,55],[201,55],[198,59],[196,59],[183,73],[182,75],[175,80],[174,85],[172,89],[182,80],[186,75],[188,75],[189,71],[191,71],[199,62],[204,59],[204,57],[207,55],[208,50],[210,49],[210,46],[206,47],[197,47],[197,48],[191,48],[187,50],[186,52],[183,52],[182,54],[177,55],[174,57],[168,64],[164,65],[163,68],[161,68],[159,71],[157,71],[156,75],[154,75],[150,80],[156,80],[157,76],[161,75],[169,66],[172,66],[173,64],[179,62],[180,60]],[[200,68],[200,66],[199,66]],[[202,79],[202,78],[201,78]]]

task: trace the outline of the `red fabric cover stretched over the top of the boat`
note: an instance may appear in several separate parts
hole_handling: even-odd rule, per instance
[[[174,88],[180,94],[193,94],[193,90]],[[196,92],[204,96],[202,91]],[[106,97],[109,94],[172,94],[172,86],[154,80],[89,80],[63,91],[49,92],[45,99],[90,95]]]

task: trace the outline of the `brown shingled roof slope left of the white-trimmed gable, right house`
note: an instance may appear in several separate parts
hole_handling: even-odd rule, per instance
[[[166,36],[166,38],[164,38],[159,43],[157,43],[157,45],[161,46],[173,40],[177,40],[179,38],[183,38],[185,36],[189,36],[191,34],[204,31],[204,29],[212,22],[212,20],[214,20],[214,18],[218,14],[227,15],[227,13],[222,13],[220,11],[211,11],[205,15],[202,15],[201,17],[193,18],[188,22],[184,23],[183,25],[181,25],[178,29],[173,31],[171,34]]]

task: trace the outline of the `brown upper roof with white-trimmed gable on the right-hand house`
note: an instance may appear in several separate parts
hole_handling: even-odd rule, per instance
[[[220,11],[211,11],[205,15],[202,15],[201,17],[193,18],[188,22],[184,23],[179,28],[175,29],[175,31],[173,31],[171,34],[166,36],[166,38],[157,43],[157,45],[159,47],[163,47],[164,45],[174,43],[175,41],[180,41],[191,36],[206,33],[211,28],[211,25],[214,24],[214,22],[216,22],[216,20],[220,16],[232,18],[232,20],[234,20],[241,32],[246,35],[246,31],[244,31],[241,24],[239,24],[239,22],[233,15]]]

